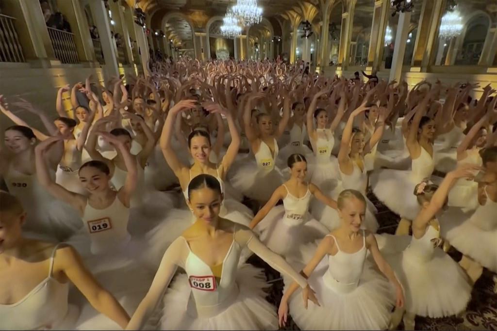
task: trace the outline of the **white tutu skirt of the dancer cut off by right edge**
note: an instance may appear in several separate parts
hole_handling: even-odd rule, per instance
[[[497,211],[493,219],[482,219],[480,208],[474,213],[449,208],[440,217],[441,235],[462,254],[497,272]],[[494,226],[482,227],[484,222]]]

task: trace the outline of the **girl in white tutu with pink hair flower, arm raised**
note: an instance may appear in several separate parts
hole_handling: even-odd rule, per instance
[[[406,330],[414,330],[416,315],[439,318],[459,314],[471,299],[472,287],[466,273],[439,248],[442,239],[436,215],[447,204],[454,182],[473,176],[475,168],[466,165],[449,172],[440,186],[427,182],[416,185],[414,195],[421,210],[413,220],[413,236],[410,240],[406,236],[405,250],[385,256],[404,286]],[[387,241],[398,239],[398,236],[388,237]],[[393,327],[398,322],[400,319],[393,322]]]

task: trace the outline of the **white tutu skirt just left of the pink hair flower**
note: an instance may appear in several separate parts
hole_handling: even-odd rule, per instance
[[[411,180],[411,171],[380,169],[369,176],[375,196],[390,210],[403,218],[413,220],[419,210],[414,188],[418,183]]]

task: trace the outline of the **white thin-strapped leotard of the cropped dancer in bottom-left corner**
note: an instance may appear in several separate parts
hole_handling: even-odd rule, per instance
[[[59,245],[55,246],[50,257],[47,278],[16,303],[0,304],[0,330],[50,330],[64,320],[69,308],[69,283],[59,283],[52,277]]]

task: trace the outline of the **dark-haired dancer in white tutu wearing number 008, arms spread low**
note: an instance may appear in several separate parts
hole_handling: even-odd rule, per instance
[[[307,281],[243,225],[219,217],[223,194],[219,181],[198,175],[188,185],[188,205],[196,221],[167,249],[149,292],[127,330],[142,330],[163,299],[162,330],[275,330],[274,307],[264,297],[266,282],[251,265],[239,266],[244,247],[304,289],[304,301],[317,303]],[[186,221],[186,220],[185,220]]]

